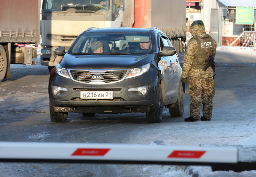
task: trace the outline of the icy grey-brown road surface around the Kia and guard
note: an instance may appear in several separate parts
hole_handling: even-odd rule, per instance
[[[39,52],[40,53],[40,52]],[[39,56],[40,57],[40,56]],[[180,62],[182,64],[182,53]],[[148,124],[145,113],[70,113],[66,123],[49,116],[46,66],[11,65],[11,79],[0,83],[0,141],[121,143],[237,147],[239,161],[256,161],[256,52],[247,47],[218,47],[216,95],[212,121],[184,122],[189,117],[186,85],[183,117]],[[256,176],[256,171],[212,171],[211,166],[0,163],[0,176]]]

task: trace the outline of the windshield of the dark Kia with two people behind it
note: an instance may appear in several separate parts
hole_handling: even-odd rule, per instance
[[[69,54],[148,54],[153,53],[152,33],[84,33]]]

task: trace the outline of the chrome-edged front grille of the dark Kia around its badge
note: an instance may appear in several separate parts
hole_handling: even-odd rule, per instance
[[[105,83],[120,81],[124,78],[127,70],[109,70],[106,72],[90,72],[86,70],[70,70],[71,76],[74,80],[79,82],[93,82],[93,81],[103,81]],[[94,80],[92,76],[94,74],[102,75],[102,79]]]

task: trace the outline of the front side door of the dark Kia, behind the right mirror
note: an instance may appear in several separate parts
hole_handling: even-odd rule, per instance
[[[160,52],[163,50],[164,46],[170,46],[168,42],[168,38],[162,34],[160,37],[160,42],[159,42],[159,50]],[[171,98],[174,95],[174,88],[173,88],[173,80],[174,78],[174,64],[175,64],[175,59],[172,56],[164,56],[161,57],[161,60],[164,61],[165,65],[164,66],[164,87],[165,87],[165,99]]]

